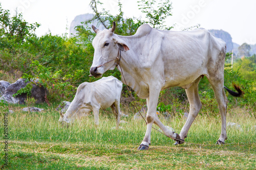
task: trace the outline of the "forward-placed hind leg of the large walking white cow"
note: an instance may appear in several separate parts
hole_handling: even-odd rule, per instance
[[[187,117],[187,121],[180,132],[180,138],[184,140],[187,136],[187,132],[197,117],[202,104],[198,95],[198,83],[200,82],[201,77],[199,77],[188,89],[186,89],[187,98],[190,104],[189,114]],[[176,141],[175,144],[181,144],[182,141]]]

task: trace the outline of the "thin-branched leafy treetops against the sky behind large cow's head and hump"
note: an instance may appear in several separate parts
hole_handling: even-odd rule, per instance
[[[106,29],[112,27],[113,21],[117,23],[117,27],[115,29],[115,33],[119,35],[134,35],[143,23],[150,24],[153,28],[157,29],[167,29],[170,30],[173,27],[167,27],[164,25],[165,19],[168,16],[172,16],[172,3],[170,0],[164,0],[156,3],[156,0],[145,1],[142,0],[139,3],[139,9],[142,13],[146,14],[146,20],[141,20],[141,18],[124,18],[122,12],[122,4],[120,1],[118,2],[119,14],[114,16],[110,13],[110,11],[102,8],[100,11],[98,10],[98,6],[102,5],[99,0],[92,0],[90,3],[90,7],[95,13],[95,16],[86,22],[83,22],[84,25],[87,25],[93,20],[97,20],[101,23]],[[78,27],[78,32],[84,32],[81,30],[81,27]]]

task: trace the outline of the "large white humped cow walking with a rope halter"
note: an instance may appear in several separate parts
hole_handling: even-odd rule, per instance
[[[222,127],[217,143],[224,143],[226,134],[227,98],[224,91],[224,62],[226,43],[205,29],[194,31],[163,31],[144,24],[133,36],[114,34],[116,24],[110,30],[100,31],[93,39],[95,49],[90,74],[96,78],[109,69],[123,74],[122,82],[132,87],[147,103],[147,129],[139,150],[148,149],[153,123],[163,133],[184,142],[187,132],[201,109],[198,83],[206,76],[219,105]],[[190,104],[189,116],[180,134],[168,130],[159,120],[156,110],[159,93],[168,87],[180,86],[185,89]],[[228,89],[232,95],[241,95]]]

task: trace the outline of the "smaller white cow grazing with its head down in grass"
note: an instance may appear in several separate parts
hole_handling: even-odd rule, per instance
[[[120,96],[122,82],[113,76],[88,83],[84,82],[77,88],[74,100],[65,114],[60,113],[60,123],[71,123],[81,113],[93,111],[94,122],[99,124],[99,109],[111,107],[116,117],[116,128],[120,122]]]

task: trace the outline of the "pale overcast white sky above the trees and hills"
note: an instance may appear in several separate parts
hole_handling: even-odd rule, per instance
[[[124,16],[140,17],[138,9],[139,0],[121,0]],[[66,27],[75,16],[92,13],[89,7],[90,0],[0,0],[3,9],[15,9],[23,13],[24,19],[30,23],[38,22],[38,36],[46,34],[49,30],[53,34],[69,33]],[[118,0],[101,0],[104,8],[112,14],[118,13]],[[182,30],[195,26],[198,23],[205,29],[222,29],[228,32],[232,41],[249,44],[256,43],[256,1],[254,0],[172,0],[173,16],[166,21],[167,26]]]

